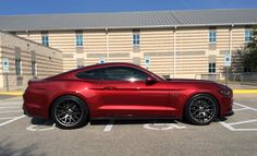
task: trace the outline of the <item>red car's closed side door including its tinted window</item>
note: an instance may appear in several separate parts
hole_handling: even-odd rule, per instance
[[[172,108],[166,82],[146,84],[150,75],[132,67],[103,68],[101,74],[99,111],[103,116],[170,116]]]

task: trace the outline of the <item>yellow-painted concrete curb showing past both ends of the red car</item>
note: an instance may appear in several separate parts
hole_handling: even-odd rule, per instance
[[[250,88],[244,88],[244,89],[233,89],[234,94],[257,94],[257,89],[250,89]],[[7,96],[22,96],[23,92],[21,91],[14,91],[14,92],[0,92],[0,95],[7,95]]]

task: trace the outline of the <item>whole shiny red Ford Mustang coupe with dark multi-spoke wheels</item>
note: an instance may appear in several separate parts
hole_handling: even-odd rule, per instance
[[[63,129],[102,118],[175,118],[204,125],[233,113],[233,93],[224,85],[163,80],[131,63],[96,64],[32,80],[23,97],[26,115],[53,119]]]

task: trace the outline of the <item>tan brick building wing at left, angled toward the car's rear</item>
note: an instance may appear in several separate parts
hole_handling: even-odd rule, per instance
[[[7,87],[7,77],[11,89],[20,89],[29,79],[44,79],[63,71],[62,52],[4,32],[0,32],[0,89]],[[7,72],[3,60],[8,60]]]

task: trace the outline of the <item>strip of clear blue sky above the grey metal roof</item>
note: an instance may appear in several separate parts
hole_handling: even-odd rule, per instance
[[[0,0],[0,15],[257,9],[257,0]]]

